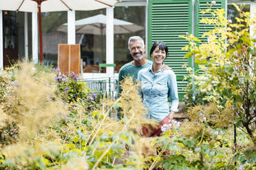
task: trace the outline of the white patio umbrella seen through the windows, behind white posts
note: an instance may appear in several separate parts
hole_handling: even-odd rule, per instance
[[[106,16],[98,14],[85,19],[80,19],[75,22],[76,33],[80,34],[94,34],[103,35],[106,34]],[[143,30],[144,27],[136,25],[135,23],[129,23],[120,19],[114,19],[114,34],[127,34],[132,32],[138,32]],[[64,23],[57,28],[59,32],[67,32],[67,23]]]

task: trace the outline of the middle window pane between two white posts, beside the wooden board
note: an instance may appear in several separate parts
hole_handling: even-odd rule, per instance
[[[106,9],[76,11],[76,43],[81,44],[83,72],[99,71],[98,64],[106,62]]]

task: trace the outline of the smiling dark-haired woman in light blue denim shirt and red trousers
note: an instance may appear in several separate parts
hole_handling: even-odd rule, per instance
[[[158,127],[153,128],[143,126],[143,136],[159,136],[164,131],[164,127],[171,124],[174,112],[178,111],[176,75],[171,70],[162,70],[167,53],[168,47],[164,42],[154,42],[150,50],[152,67],[138,72],[138,81],[141,82],[140,94],[144,106],[149,111],[147,118],[156,119],[160,123]],[[168,97],[171,97],[171,106],[169,106]]]

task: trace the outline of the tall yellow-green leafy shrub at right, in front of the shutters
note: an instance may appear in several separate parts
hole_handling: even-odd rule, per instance
[[[256,143],[256,40],[250,37],[255,32],[255,19],[249,12],[239,12],[237,23],[231,23],[224,17],[224,10],[211,12],[211,19],[202,19],[202,23],[214,25],[215,29],[205,32],[202,37],[208,43],[196,43],[200,40],[193,36],[182,36],[189,40],[186,58],[195,57],[195,63],[203,73],[190,73],[186,77],[190,83],[186,88],[187,104],[217,104],[219,110],[228,108],[235,115],[233,122],[244,126]],[[193,100],[193,95],[195,100]]]

